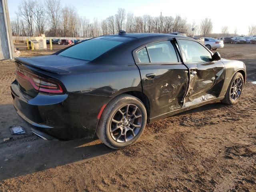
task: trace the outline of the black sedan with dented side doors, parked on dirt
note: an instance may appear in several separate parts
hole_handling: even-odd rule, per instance
[[[243,62],[171,34],[100,36],[49,56],[16,58],[14,108],[47,140],[133,144],[146,122],[208,103],[236,104]]]

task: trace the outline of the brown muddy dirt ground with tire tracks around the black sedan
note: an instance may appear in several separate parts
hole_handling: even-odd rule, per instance
[[[16,47],[22,56],[63,48]],[[256,45],[225,44],[218,51],[246,63],[240,102],[209,104],[149,124],[123,150],[99,140],[45,141],[33,135],[12,107],[14,62],[0,61],[0,191],[256,191]],[[11,135],[14,125],[27,134]],[[12,139],[3,142],[7,137]]]

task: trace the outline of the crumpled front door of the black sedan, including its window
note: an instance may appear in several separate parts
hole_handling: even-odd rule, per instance
[[[224,64],[212,61],[212,53],[196,41],[179,39],[178,46],[189,69],[189,88],[183,107],[218,98],[225,78]]]

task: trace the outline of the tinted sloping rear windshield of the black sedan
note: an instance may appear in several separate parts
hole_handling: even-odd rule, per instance
[[[118,36],[98,37],[72,46],[60,52],[58,55],[92,61],[115,46],[129,40],[130,38],[122,38]]]

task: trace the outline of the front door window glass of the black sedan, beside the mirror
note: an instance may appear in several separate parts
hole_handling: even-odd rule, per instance
[[[184,62],[209,62],[212,59],[210,52],[201,44],[190,40],[179,40]]]

